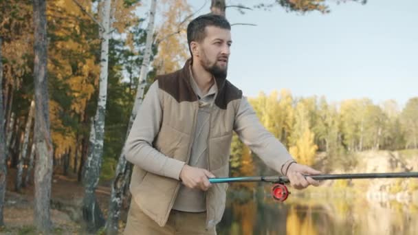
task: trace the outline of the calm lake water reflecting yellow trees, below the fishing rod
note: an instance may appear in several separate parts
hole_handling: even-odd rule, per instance
[[[218,234],[418,234],[417,205],[292,197],[277,203],[263,188],[230,190]]]

